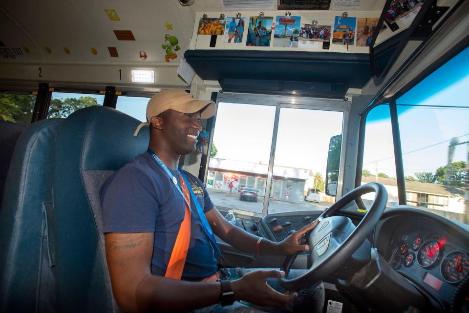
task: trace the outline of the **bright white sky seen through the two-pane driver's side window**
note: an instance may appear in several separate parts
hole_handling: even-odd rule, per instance
[[[274,118],[272,105],[218,103],[216,157],[268,164]],[[274,165],[311,169],[325,177],[329,140],[341,134],[342,122],[342,112],[281,108]]]

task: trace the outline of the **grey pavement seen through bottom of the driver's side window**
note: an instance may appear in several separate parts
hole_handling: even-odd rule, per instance
[[[257,202],[247,202],[239,200],[239,194],[229,195],[225,192],[216,192],[213,189],[209,190],[210,198],[212,199],[215,207],[224,207],[231,209],[238,209],[254,213],[262,213],[262,206],[264,197],[258,197]],[[291,212],[291,211],[304,211],[304,210],[324,210],[331,204],[329,203],[315,203],[304,201],[303,203],[280,201],[271,199],[269,202],[269,213],[278,212]]]

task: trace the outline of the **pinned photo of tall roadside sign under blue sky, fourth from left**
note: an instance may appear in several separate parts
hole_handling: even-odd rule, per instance
[[[274,47],[298,48],[299,16],[277,16],[274,30]]]

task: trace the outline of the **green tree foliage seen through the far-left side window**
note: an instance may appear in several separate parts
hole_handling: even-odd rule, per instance
[[[0,94],[0,119],[22,125],[29,125],[34,110],[36,96]]]

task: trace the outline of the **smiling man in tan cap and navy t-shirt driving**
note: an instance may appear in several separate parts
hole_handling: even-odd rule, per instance
[[[178,168],[180,156],[195,151],[200,119],[214,112],[213,102],[194,100],[184,90],[153,96],[148,122],[134,134],[149,126],[147,152],[100,190],[107,265],[119,307],[125,312],[322,312],[322,282],[285,292],[278,283],[283,271],[218,270],[221,252],[214,235],[249,254],[286,256],[309,250],[301,237],[318,222],[276,243],[225,220],[202,182]],[[302,273],[292,270],[289,277]]]

